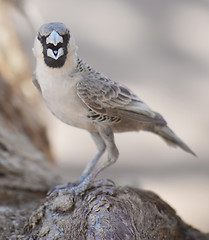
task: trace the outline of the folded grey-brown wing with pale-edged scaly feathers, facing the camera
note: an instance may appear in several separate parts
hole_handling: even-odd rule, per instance
[[[96,113],[166,124],[160,114],[153,112],[129,89],[108,78],[85,77],[77,84],[77,94]]]

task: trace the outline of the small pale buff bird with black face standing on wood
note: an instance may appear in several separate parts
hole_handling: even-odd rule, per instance
[[[119,151],[114,133],[152,132],[168,145],[196,156],[161,114],[129,88],[92,68],[78,56],[77,49],[64,23],[43,24],[34,41],[36,69],[32,77],[52,114],[68,125],[87,130],[97,146],[98,152],[74,182],[74,191],[86,190],[100,172],[117,161]],[[98,164],[105,150],[108,157]]]

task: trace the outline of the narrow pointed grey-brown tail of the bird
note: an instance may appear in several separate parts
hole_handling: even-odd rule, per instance
[[[161,136],[168,145],[174,147],[178,146],[184,151],[196,156],[196,154],[178,136],[176,136],[168,126],[155,126],[154,132]]]

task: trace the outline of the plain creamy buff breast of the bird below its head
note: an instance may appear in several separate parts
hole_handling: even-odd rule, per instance
[[[78,79],[44,79],[39,81],[42,96],[50,111],[61,121],[87,130],[93,130],[87,118],[88,108],[77,95]]]

